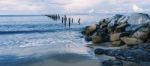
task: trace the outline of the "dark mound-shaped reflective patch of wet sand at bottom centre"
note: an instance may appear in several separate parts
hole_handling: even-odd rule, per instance
[[[45,60],[30,63],[25,66],[100,66],[96,59],[90,59],[88,56],[68,53],[53,54]]]

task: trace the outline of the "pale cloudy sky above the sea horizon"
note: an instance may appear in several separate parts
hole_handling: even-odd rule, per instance
[[[149,12],[150,0],[0,0],[0,14]]]

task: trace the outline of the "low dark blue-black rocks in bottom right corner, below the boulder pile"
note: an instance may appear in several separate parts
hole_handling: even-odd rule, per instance
[[[97,48],[95,54],[115,57],[115,59],[103,61],[102,66],[150,66],[149,43],[122,49]]]

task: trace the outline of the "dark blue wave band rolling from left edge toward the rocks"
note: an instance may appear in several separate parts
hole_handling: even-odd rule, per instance
[[[82,28],[76,26],[73,26],[72,28],[66,28],[62,24],[0,25],[0,34],[45,33],[65,30],[80,31]]]

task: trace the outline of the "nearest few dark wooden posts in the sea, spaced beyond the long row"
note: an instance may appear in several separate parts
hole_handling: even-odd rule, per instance
[[[81,21],[81,19],[79,18],[79,19],[78,19],[78,24],[79,24],[79,25],[80,25],[80,21]],[[68,23],[68,26],[69,26],[69,28],[70,28],[70,27],[71,27],[71,23],[74,23],[74,19],[71,18],[71,17],[68,17],[68,18],[67,18],[67,16],[64,15],[64,16],[61,18],[61,22],[62,22],[62,24],[65,25],[65,27],[67,26],[67,23]]]

